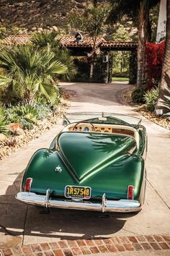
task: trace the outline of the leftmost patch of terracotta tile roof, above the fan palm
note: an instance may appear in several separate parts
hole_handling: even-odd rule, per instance
[[[14,46],[19,44],[27,43],[30,39],[30,35],[9,35],[3,40],[6,46]]]

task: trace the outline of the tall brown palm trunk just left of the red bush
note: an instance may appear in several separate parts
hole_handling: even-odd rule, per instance
[[[137,85],[143,85],[143,80],[146,80],[146,42],[148,40],[148,18],[149,4],[148,0],[140,1],[138,25],[138,74]]]

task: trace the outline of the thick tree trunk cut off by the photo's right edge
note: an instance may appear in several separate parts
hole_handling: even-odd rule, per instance
[[[166,3],[166,46],[164,55],[164,64],[162,67],[161,83],[158,96],[158,103],[156,109],[163,109],[166,112],[166,108],[161,103],[164,100],[164,95],[170,95],[170,0]]]

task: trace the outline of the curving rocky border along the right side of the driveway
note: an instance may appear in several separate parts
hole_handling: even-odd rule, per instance
[[[153,123],[158,124],[161,127],[164,127],[166,129],[170,129],[170,120],[169,119],[163,118],[161,116],[156,116],[156,114],[154,112],[150,112],[147,110],[145,104],[139,105],[139,104],[133,103],[132,97],[131,97],[133,89],[134,88],[130,88],[130,89],[126,90],[125,93],[123,93],[122,96],[123,96],[125,102],[127,102],[130,106],[132,106],[133,109],[135,111],[137,111],[140,115],[145,116],[150,121],[153,121]]]

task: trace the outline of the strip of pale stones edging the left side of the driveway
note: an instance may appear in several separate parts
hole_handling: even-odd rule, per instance
[[[64,95],[58,108],[46,119],[38,121],[33,129],[24,129],[22,135],[9,135],[4,141],[0,141],[0,160],[16,152],[19,148],[23,148],[28,142],[40,137],[40,135],[58,124],[58,120],[65,113],[68,105],[68,95]]]

